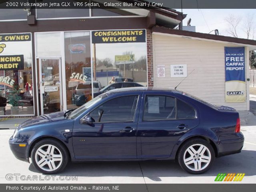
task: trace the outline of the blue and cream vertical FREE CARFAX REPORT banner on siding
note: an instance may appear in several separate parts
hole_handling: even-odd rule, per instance
[[[225,101],[245,102],[244,47],[225,47]]]

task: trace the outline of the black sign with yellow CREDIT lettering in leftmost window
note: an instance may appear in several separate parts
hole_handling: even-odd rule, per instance
[[[0,55],[0,70],[23,70],[24,55]]]

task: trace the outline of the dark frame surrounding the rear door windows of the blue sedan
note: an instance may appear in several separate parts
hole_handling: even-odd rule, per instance
[[[176,110],[176,114],[175,114],[175,118],[174,119],[154,119],[154,120],[144,120],[144,107],[145,107],[145,104],[146,104],[146,97],[147,96],[165,96],[165,97],[171,97],[171,98],[174,98],[175,100],[175,110]],[[173,120],[183,120],[183,119],[196,119],[197,118],[197,110],[196,108],[194,108],[191,104],[188,104],[188,102],[185,102],[188,106],[192,107],[195,111],[195,117],[194,118],[177,118],[177,100],[180,100],[182,102],[185,102],[184,100],[181,100],[179,98],[176,98],[174,96],[170,96],[170,95],[166,95],[166,94],[145,94],[145,97],[144,97],[144,102],[143,102],[143,107],[142,107],[142,122],[147,122],[147,121],[173,121]],[[165,98],[165,104],[166,104],[166,98]]]

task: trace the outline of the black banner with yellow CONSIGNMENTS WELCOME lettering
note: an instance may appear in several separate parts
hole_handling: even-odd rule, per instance
[[[146,42],[146,30],[93,31],[92,43]]]

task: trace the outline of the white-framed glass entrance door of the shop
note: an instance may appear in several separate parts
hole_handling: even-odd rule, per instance
[[[39,58],[41,114],[63,110],[61,58]]]

